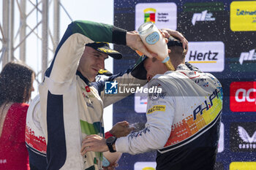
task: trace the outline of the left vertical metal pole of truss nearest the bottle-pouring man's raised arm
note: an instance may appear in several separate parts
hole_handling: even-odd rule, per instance
[[[48,67],[48,0],[42,1],[42,79]]]

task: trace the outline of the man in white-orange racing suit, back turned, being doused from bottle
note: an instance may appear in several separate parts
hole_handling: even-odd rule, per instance
[[[91,150],[130,154],[157,150],[157,170],[214,169],[222,85],[212,74],[191,71],[184,64],[184,50],[177,39],[170,38],[168,47],[175,72],[167,71],[156,58],[144,57],[138,65],[147,71],[148,88],[162,90],[148,93],[146,127],[111,143],[97,135],[86,136],[82,154]]]

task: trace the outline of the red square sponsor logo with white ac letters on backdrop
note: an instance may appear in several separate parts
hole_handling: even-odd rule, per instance
[[[232,112],[256,112],[256,82],[232,82],[230,84],[230,110]]]

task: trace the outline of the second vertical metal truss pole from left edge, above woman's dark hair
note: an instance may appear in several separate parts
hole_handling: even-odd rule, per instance
[[[14,34],[14,0],[10,1],[10,36],[9,36],[9,53],[8,53],[8,62],[14,60],[14,51],[13,51],[13,34]]]

